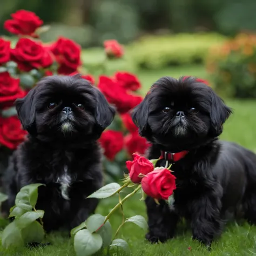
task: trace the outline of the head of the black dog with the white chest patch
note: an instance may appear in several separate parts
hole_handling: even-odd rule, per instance
[[[79,76],[43,78],[16,109],[25,130],[48,140],[97,139],[114,117],[102,93]]]

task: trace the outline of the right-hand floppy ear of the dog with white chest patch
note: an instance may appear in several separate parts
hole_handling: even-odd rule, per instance
[[[100,126],[101,130],[104,131],[106,127],[112,123],[114,115],[116,114],[116,110],[107,102],[102,92],[100,92],[97,88],[95,88],[95,96],[95,119],[97,124]]]

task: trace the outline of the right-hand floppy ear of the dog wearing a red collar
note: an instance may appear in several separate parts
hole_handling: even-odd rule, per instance
[[[210,118],[212,125],[212,133],[215,137],[219,136],[223,131],[223,124],[232,113],[230,107],[226,106],[223,99],[211,90],[211,110]]]

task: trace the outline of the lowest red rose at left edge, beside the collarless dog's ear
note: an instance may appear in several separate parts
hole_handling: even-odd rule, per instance
[[[26,131],[21,129],[22,125],[17,116],[0,117],[0,144],[14,150],[23,142]]]

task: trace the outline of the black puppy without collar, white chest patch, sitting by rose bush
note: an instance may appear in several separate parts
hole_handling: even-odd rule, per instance
[[[45,211],[46,231],[71,229],[95,211],[86,199],[102,186],[102,152],[97,139],[110,125],[114,108],[102,93],[79,76],[43,78],[16,101],[18,117],[29,132],[6,171],[8,207],[25,185],[38,188],[36,208]]]

